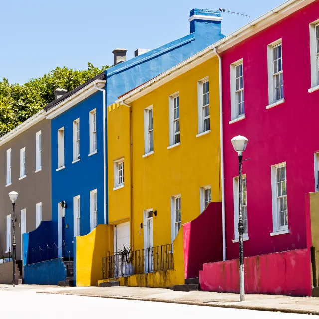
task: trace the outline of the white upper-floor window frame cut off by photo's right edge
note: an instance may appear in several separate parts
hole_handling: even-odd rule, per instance
[[[319,48],[317,48],[316,27],[319,28],[319,20],[316,20],[309,25],[311,88],[319,89]],[[309,89],[309,92],[312,91],[314,90]]]

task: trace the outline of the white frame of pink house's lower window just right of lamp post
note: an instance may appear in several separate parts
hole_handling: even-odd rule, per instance
[[[277,197],[277,168],[286,167],[286,195],[284,197],[288,198],[287,193],[287,165],[286,162],[271,166],[271,188],[272,188],[272,214],[273,214],[273,233],[271,236],[288,233],[288,225],[280,226],[279,218],[280,212],[278,207],[278,197]],[[288,204],[287,204],[288,211]],[[289,220],[288,220],[289,222]]]

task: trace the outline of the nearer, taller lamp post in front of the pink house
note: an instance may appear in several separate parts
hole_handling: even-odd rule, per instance
[[[243,159],[243,152],[246,149],[248,140],[241,135],[231,139],[234,150],[238,153],[239,160],[239,221],[238,221],[238,235],[239,235],[239,289],[240,301],[245,300],[245,277],[244,277],[244,222],[242,212],[242,176],[241,176],[241,162]]]

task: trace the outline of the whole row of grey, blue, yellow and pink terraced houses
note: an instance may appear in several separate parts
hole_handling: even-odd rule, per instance
[[[245,291],[316,293],[319,0],[228,36],[218,10],[188,21],[0,138],[0,282],[17,191],[17,283],[238,292],[241,205]]]

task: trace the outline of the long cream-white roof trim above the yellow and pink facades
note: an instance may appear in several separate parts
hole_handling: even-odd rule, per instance
[[[154,90],[155,88],[160,87],[164,83],[168,82],[170,79],[179,76],[180,74],[186,72],[183,71],[184,69],[191,69],[192,67],[196,66],[204,62],[207,59],[204,57],[214,56],[214,47],[218,49],[219,52],[223,52],[228,48],[238,44],[239,42],[245,40],[246,38],[260,32],[261,30],[269,27],[270,25],[278,22],[279,20],[285,18],[286,16],[296,12],[300,8],[315,2],[316,0],[289,0],[285,3],[277,6],[273,10],[267,12],[266,14],[262,15],[261,17],[253,20],[252,22],[246,24],[242,28],[238,29],[237,31],[231,33],[230,35],[224,37],[220,41],[210,45],[206,49],[198,52],[197,54],[193,55],[192,57],[188,58],[187,60],[177,64],[173,68],[169,69],[168,71],[160,74],[159,76],[155,77],[154,79],[144,83],[143,85],[137,87],[135,90],[128,92],[121,98],[115,101],[115,103],[130,103],[134,100],[138,99],[139,97],[147,94],[148,92]],[[201,59],[199,63],[196,63],[197,59]],[[191,64],[192,63],[192,64]],[[179,70],[179,71],[177,71]],[[169,78],[167,78],[169,76]],[[155,84],[156,83],[156,84]],[[150,86],[152,85],[152,88]],[[143,91],[143,93],[142,93]]]

